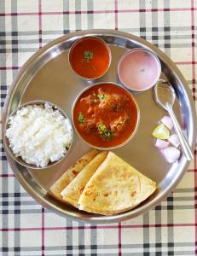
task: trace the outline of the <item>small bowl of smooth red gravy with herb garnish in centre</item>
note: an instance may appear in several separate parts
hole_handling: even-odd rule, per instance
[[[72,44],[68,58],[80,78],[99,79],[110,67],[111,51],[101,38],[84,37]]]

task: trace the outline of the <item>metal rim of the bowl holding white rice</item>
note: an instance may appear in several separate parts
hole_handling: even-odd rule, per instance
[[[24,108],[26,106],[29,106],[29,105],[45,105],[45,104],[49,104],[52,108],[56,109],[56,110],[59,110],[60,113],[68,119],[68,122],[70,123],[71,125],[71,135],[72,135],[72,139],[71,139],[71,143],[70,143],[70,146],[69,148],[67,149],[67,152],[66,154],[64,154],[60,160],[56,160],[54,162],[49,162],[49,164],[47,166],[43,166],[43,167],[40,167],[40,166],[34,166],[32,164],[28,164],[26,163],[25,160],[22,160],[21,156],[20,157],[17,157],[15,156],[15,154],[13,153],[12,149],[9,147],[9,138],[6,137],[6,130],[8,129],[8,126],[9,126],[9,119],[14,116],[15,113],[17,113],[18,110],[20,110],[21,108]],[[65,113],[59,106],[57,106],[55,103],[53,102],[49,102],[49,101],[41,101],[41,100],[33,100],[33,101],[29,101],[29,102],[25,102],[25,103],[22,103],[20,104],[19,107],[15,108],[11,113],[9,113],[9,116],[8,118],[6,119],[6,122],[5,122],[5,125],[4,125],[4,145],[5,145],[5,148],[6,150],[8,151],[9,155],[18,163],[20,164],[21,166],[25,166],[26,168],[29,168],[29,169],[34,169],[34,170],[43,170],[43,169],[46,169],[46,168],[50,168],[50,167],[54,167],[55,165],[59,164],[62,160],[64,160],[64,158],[67,156],[67,154],[69,153],[69,151],[71,150],[72,148],[72,143],[73,143],[73,128],[72,128],[72,122],[70,120],[70,118],[68,117],[67,113]]]

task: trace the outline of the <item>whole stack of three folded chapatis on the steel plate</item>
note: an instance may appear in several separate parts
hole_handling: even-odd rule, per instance
[[[116,154],[92,149],[51,187],[63,201],[86,212],[113,215],[130,210],[156,189],[156,183]]]

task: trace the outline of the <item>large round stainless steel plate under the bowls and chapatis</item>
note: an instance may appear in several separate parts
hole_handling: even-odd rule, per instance
[[[113,30],[74,32],[56,39],[39,49],[35,55],[32,55],[29,61],[20,69],[6,98],[3,108],[3,135],[4,125],[9,113],[23,102],[33,100],[54,102],[71,118],[72,102],[88,83],[78,79],[72,72],[67,61],[67,55],[73,42],[84,35],[96,35],[102,38],[109,44],[112,51],[111,67],[99,81],[119,82],[117,77],[119,59],[128,49],[142,47],[152,50],[154,54],[159,56],[162,66],[161,78],[168,79],[174,85],[177,92],[174,110],[183,125],[190,146],[194,148],[196,137],[194,103],[183,75],[178,71],[175,64],[154,45],[149,44],[142,38]],[[172,189],[175,189],[188,167],[188,162],[182,155],[178,163],[168,164],[159,150],[154,148],[154,138],[151,134],[159,119],[165,115],[165,111],[154,102],[153,91],[147,90],[137,93],[135,98],[141,110],[141,122],[136,136],[130,143],[114,150],[114,152],[158,184],[156,193],[139,207],[116,216],[105,217],[78,211],[74,207],[57,201],[49,194],[51,184],[67,170],[68,166],[89,149],[76,134],[74,134],[72,148],[65,160],[49,169],[26,169],[6,153],[14,175],[36,201],[65,217],[103,223],[134,218],[147,212],[164,200]]]

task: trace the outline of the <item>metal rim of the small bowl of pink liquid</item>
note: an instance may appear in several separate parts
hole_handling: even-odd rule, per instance
[[[159,80],[160,75],[161,75],[161,62],[159,61],[158,55],[154,54],[154,52],[153,52],[152,50],[150,50],[150,49],[144,49],[144,48],[142,48],[142,47],[133,48],[133,49],[127,50],[127,51],[125,52],[125,54],[122,55],[121,58],[120,58],[120,60],[119,60],[119,64],[118,64],[118,67],[117,67],[117,73],[118,73],[118,76],[119,76],[119,81],[120,81],[120,83],[123,84],[126,89],[128,89],[128,90],[130,90],[130,91],[136,91],[136,92],[141,92],[141,91],[149,90],[149,89],[151,89],[152,87],[154,87],[154,84],[151,84],[151,85],[149,85],[148,87],[146,87],[146,88],[144,88],[144,89],[135,90],[135,89],[132,89],[132,88],[130,88],[129,86],[127,86],[125,83],[123,83],[122,79],[120,78],[119,73],[120,73],[120,66],[121,66],[122,62],[125,60],[125,57],[126,57],[127,55],[130,55],[130,54],[132,54],[133,52],[139,51],[139,50],[148,52],[150,55],[152,55],[152,56],[154,57],[155,61],[157,61],[157,63],[158,63],[159,72],[158,72],[157,80],[156,80],[156,82],[155,82],[154,84],[157,83],[157,81]]]

